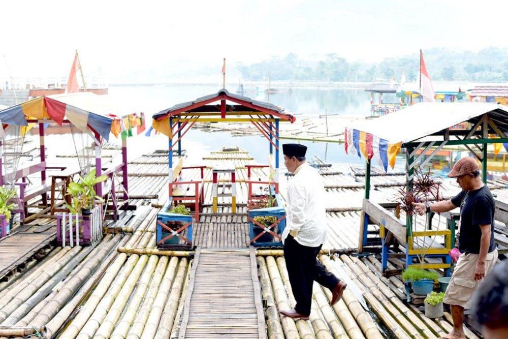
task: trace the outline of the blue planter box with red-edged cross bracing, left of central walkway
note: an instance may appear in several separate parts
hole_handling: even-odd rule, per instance
[[[181,239],[177,235],[173,235],[167,238],[173,233],[164,228],[160,223],[164,225],[168,225],[168,223],[181,224],[181,226],[177,226],[178,228],[175,229],[175,231],[180,229],[182,226],[190,223],[190,225],[187,228],[178,233],[180,236],[187,239],[187,241]],[[170,212],[160,212],[157,214],[157,248],[169,248],[171,246],[190,248],[192,247],[192,231],[193,231],[192,215],[182,215]]]

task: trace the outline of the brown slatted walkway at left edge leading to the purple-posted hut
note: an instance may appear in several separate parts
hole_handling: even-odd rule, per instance
[[[40,222],[40,220],[39,220]],[[55,221],[53,221],[55,223]],[[0,239],[0,279],[44,248],[56,237],[56,225],[24,225]]]

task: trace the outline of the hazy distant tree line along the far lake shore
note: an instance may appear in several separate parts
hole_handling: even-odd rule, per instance
[[[448,48],[424,50],[425,65],[433,81],[508,81],[508,49],[489,47],[478,53]],[[322,60],[300,59],[295,53],[274,55],[253,65],[237,65],[244,80],[316,80],[316,81],[399,81],[402,72],[406,80],[417,78],[420,51],[390,57],[378,64],[347,61],[329,53]]]

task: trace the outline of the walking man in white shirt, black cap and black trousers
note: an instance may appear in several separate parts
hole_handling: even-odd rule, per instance
[[[308,320],[314,281],[332,292],[335,304],[346,288],[317,260],[326,238],[325,188],[321,175],[305,161],[307,147],[283,144],[284,164],[295,174],[288,185],[286,228],[282,234],[284,258],[296,305],[280,314],[294,320]]]

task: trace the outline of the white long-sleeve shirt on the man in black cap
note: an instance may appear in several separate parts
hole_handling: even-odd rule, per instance
[[[289,231],[297,231],[296,241],[304,246],[316,247],[326,239],[323,179],[306,162],[294,174],[288,185],[286,227],[282,239],[285,240]]]

